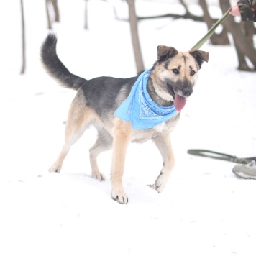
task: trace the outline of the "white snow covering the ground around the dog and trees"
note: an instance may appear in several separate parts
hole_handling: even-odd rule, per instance
[[[136,74],[123,1],[60,0],[58,55],[85,78]],[[137,1],[140,15],[179,12],[178,1]],[[213,5],[213,15],[220,14]],[[233,1],[234,2],[234,1]],[[99,157],[105,182],[90,177],[90,128],[72,147],[61,173],[47,170],[63,145],[65,118],[74,91],[61,88],[40,64],[47,36],[45,1],[24,0],[27,71],[21,68],[19,1],[0,9],[0,255],[255,255],[255,180],[237,178],[235,163],[187,154],[191,148],[255,156],[255,73],[237,71],[234,44],[201,50],[209,63],[199,72],[193,95],[171,134],[175,168],[163,193],[150,188],[162,160],[152,142],[129,146],[124,188],[129,204],[111,199],[111,152]],[[148,9],[148,12],[147,12]],[[191,12],[201,12],[196,1]],[[12,11],[12,12],[11,12]],[[139,24],[145,68],[155,62],[157,45],[189,50],[206,25],[183,19]]]

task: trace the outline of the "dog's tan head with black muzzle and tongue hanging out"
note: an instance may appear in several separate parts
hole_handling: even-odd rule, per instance
[[[178,52],[173,47],[159,45],[151,76],[156,93],[162,99],[174,101],[175,109],[180,111],[193,93],[201,65],[208,59],[209,52]]]

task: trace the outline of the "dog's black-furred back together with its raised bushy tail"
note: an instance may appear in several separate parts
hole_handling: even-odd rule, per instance
[[[86,80],[70,73],[68,68],[58,58],[56,52],[57,37],[49,34],[42,44],[41,58],[47,73],[60,82],[65,88],[83,91],[86,104],[100,116],[106,112],[114,114],[115,109],[127,98],[134,81],[132,78],[98,77]]]

